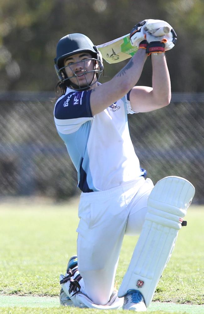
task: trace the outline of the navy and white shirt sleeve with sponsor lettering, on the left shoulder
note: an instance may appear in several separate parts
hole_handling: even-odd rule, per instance
[[[57,131],[62,134],[76,132],[83,123],[94,119],[90,107],[91,91],[70,92],[58,99],[54,109]]]

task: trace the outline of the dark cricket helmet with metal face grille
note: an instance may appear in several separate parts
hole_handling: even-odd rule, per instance
[[[94,60],[94,70],[88,71],[93,72],[93,79],[90,84],[87,84],[84,86],[80,86],[80,83],[78,81],[78,78],[76,73],[73,71],[73,75],[71,77],[67,77],[67,74],[65,72],[65,68],[68,66],[64,66],[64,60],[74,54],[80,53],[80,52],[89,52],[92,56],[91,60]],[[97,80],[99,79],[104,66],[103,66],[103,59],[100,51],[96,46],[94,46],[93,42],[87,37],[86,35],[74,33],[74,34],[68,34],[64,37],[62,37],[56,48],[56,58],[55,60],[55,69],[57,76],[59,80],[64,83],[67,87],[71,87],[73,89],[77,90],[84,90],[89,89],[89,87],[94,84],[94,77],[96,74]],[[99,67],[96,68],[96,64],[98,63]],[[84,60],[84,69],[85,69],[85,60]],[[88,73],[86,72],[86,73]],[[85,76],[86,77],[86,76]],[[70,81],[70,78],[77,78],[78,85],[73,84]]]

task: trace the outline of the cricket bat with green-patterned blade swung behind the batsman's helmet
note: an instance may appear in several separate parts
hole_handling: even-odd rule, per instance
[[[168,34],[169,32],[170,28],[165,26],[156,30],[152,33],[152,35],[158,37]],[[130,34],[124,35],[97,46],[106,62],[110,64],[117,63],[134,56],[138,48],[136,46],[132,46],[129,35]]]

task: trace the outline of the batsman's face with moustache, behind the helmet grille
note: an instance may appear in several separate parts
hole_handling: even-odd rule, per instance
[[[94,72],[89,72],[94,70],[94,60],[91,58],[90,53],[81,52],[64,60],[67,77],[73,84],[83,86],[91,83],[94,78]]]

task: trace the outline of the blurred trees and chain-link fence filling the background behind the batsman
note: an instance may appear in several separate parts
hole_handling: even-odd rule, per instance
[[[133,145],[154,183],[185,177],[196,187],[194,201],[204,203],[203,16],[203,0],[0,0],[0,197],[79,193],[53,121],[57,42],[79,32],[99,45],[151,18],[166,20],[178,36],[166,53],[173,95],[168,107],[129,116]],[[126,62],[104,62],[100,82]],[[148,58],[138,84],[151,81]]]

